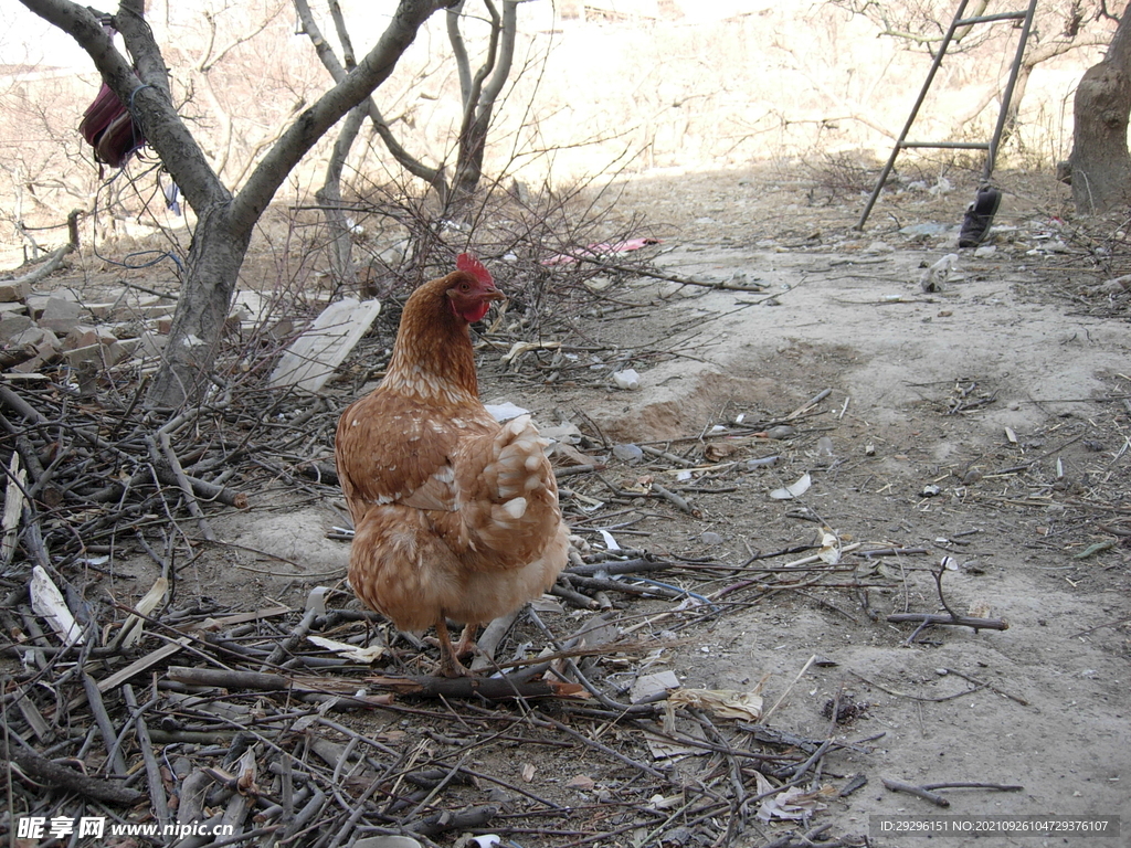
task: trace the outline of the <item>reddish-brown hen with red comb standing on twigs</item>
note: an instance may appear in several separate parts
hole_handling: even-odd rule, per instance
[[[474,257],[456,267],[408,298],[385,379],[335,443],[349,583],[402,630],[434,625],[447,676],[467,674],[475,628],[550,588],[568,552],[546,441],[529,416],[500,425],[480,403],[468,325],[503,295]],[[467,625],[459,648],[448,617]]]

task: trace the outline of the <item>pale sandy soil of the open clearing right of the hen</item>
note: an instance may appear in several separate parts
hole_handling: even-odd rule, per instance
[[[729,185],[731,204],[719,184]],[[858,597],[786,595],[697,632],[671,667],[710,689],[741,689],[770,674],[772,702],[812,655],[832,660],[806,673],[774,724],[820,736],[829,729],[821,709],[838,692],[867,703],[846,736],[884,735],[869,754],[846,754],[838,765],[872,781],[822,814],[847,832],[866,831],[870,814],[938,812],[884,790],[881,777],[1025,787],[951,793],[949,814],[1106,813],[1126,822],[1128,547],[1078,559],[1112,538],[1104,526],[1128,508],[1128,406],[1105,400],[1131,387],[1126,303],[1097,314],[1071,297],[1112,269],[1097,267],[1079,243],[1071,254],[1039,251],[1063,233],[1047,215],[1018,211],[1015,196],[988,242],[994,250],[978,258],[961,251],[958,272],[927,294],[923,267],[955,249],[953,232],[916,241],[878,216],[879,232],[818,226],[798,246],[796,236],[775,235],[759,220],[759,200],[772,207],[785,192],[739,175],[719,175],[715,185],[719,196],[665,244],[663,265],[702,280],[744,272],[772,298],[672,291],[647,329],[633,332],[667,329],[676,338],[693,327],[698,339],[709,339],[696,346],[698,361],[641,370],[641,392],[587,404],[588,414],[619,438],[674,438],[740,412],[784,415],[821,389],[832,392],[785,448],[784,464],[740,476],[736,493],[697,501],[700,521],[656,535],[693,556],[703,553],[702,531],[714,530],[723,542],[710,553],[739,563],[751,550],[804,542],[811,526],[788,518],[796,504],[767,493],[810,471],[804,511],[841,540],[930,551],[880,566],[908,571],[899,590],[872,595],[872,613],[936,611],[924,571],[950,555],[964,563],[953,580],[947,576],[950,605],[982,606],[1010,626],[934,630],[909,646],[908,625],[871,618]],[[949,223],[946,202],[904,200],[905,226],[915,218]],[[950,222],[964,205],[951,199]],[[851,215],[851,207],[840,213]],[[958,387],[993,403],[953,414]],[[820,456],[822,436],[831,457]],[[1029,462],[1024,478],[1002,470]],[[936,496],[924,495],[931,485],[941,490]],[[656,537],[648,546],[658,546]],[[991,686],[942,700],[968,687],[943,669]],[[872,836],[873,845],[906,845]],[[1106,842],[1128,845],[1131,834]]]

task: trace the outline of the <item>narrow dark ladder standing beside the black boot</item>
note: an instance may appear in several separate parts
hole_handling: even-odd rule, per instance
[[[950,21],[950,28],[947,29],[947,34],[942,37],[942,43],[939,45],[939,50],[934,54],[934,61],[931,63],[931,70],[927,71],[926,81],[923,83],[923,88],[920,92],[918,98],[915,101],[915,105],[912,106],[912,113],[907,116],[907,123],[904,124],[904,131],[899,133],[899,138],[896,140],[896,146],[891,150],[891,156],[888,157],[887,164],[880,172],[880,178],[875,181],[875,188],[872,189],[872,196],[867,199],[867,205],[864,207],[864,211],[860,216],[856,230],[864,228],[864,222],[866,222],[867,216],[872,214],[872,207],[875,206],[875,200],[880,197],[880,191],[883,190],[883,183],[891,173],[891,168],[896,164],[896,158],[899,156],[899,152],[905,148],[935,147],[952,150],[985,150],[986,164],[985,168],[982,171],[982,184],[987,185],[990,183],[990,175],[993,173],[994,161],[998,158],[998,145],[1001,144],[1001,135],[1005,129],[1005,120],[1009,116],[1009,103],[1013,98],[1013,88],[1017,86],[1017,75],[1021,69],[1021,59],[1025,57],[1025,45],[1029,40],[1029,31],[1033,28],[1033,15],[1037,9],[1037,0],[1029,0],[1029,7],[1024,11],[1003,11],[996,15],[978,15],[973,18],[964,17],[968,2],[969,0],[960,0],[958,3],[958,9],[955,11],[955,19]],[[926,93],[931,88],[934,75],[942,64],[943,57],[947,55],[947,47],[949,47],[951,42],[955,41],[955,34],[958,31],[964,29],[964,27],[969,27],[974,24],[992,24],[1001,20],[1020,20],[1022,23],[1021,37],[1017,44],[1017,54],[1013,57],[1013,64],[1009,71],[1009,81],[1005,83],[1005,90],[1001,95],[1001,111],[998,113],[998,124],[994,127],[993,138],[988,141],[908,141],[907,133],[910,132],[912,124],[915,123],[915,118],[918,115],[920,107],[923,105],[923,101],[926,99]]]

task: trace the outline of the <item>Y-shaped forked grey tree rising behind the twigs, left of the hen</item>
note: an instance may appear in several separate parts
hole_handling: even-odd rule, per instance
[[[374,47],[357,67],[302,112],[233,196],[208,164],[170,97],[169,70],[145,20],[144,0],[121,0],[114,23],[135,68],[114,49],[94,12],[70,0],[20,0],[68,33],[102,78],[128,104],[146,138],[197,213],[198,225],[162,365],[146,398],[154,407],[199,399],[208,384],[224,319],[252,227],[311,147],[392,72],[424,21],[454,0],[399,0]],[[140,79],[140,85],[139,85]]]

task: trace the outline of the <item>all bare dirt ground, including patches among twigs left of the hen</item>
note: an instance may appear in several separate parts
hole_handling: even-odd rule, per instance
[[[932,845],[1131,846],[1131,313],[1126,294],[1081,294],[1131,270],[1131,250],[1117,227],[1089,235],[1064,224],[1065,190],[1051,180],[999,178],[1005,199],[976,254],[956,246],[973,190],[957,178],[949,192],[886,194],[863,233],[852,230],[858,193],[836,193],[811,173],[767,166],[632,182],[621,206],[625,217],[647,214],[641,234],[661,239],[648,250],[664,274],[749,291],[634,280],[618,292],[619,308],[585,322],[586,344],[601,353],[552,383],[541,379],[549,354],[510,367],[483,354],[486,401],[527,407],[545,426],[570,422],[607,460],[604,482],[561,478],[567,517],[594,548],[615,540],[710,565],[681,579],[716,597],[717,614],[614,598],[613,620],[657,648],[598,663],[598,677],[628,690],[641,674],[671,670],[689,689],[757,689],[775,730],[846,743],[821,762],[813,786],[829,789],[809,822],[846,843],[920,845],[870,816],[944,814],[1120,816],[1122,833]],[[924,269],[952,252],[941,291],[924,292]],[[639,390],[610,382],[627,366],[640,373]],[[346,400],[338,384],[333,403]],[[793,430],[770,440],[752,423]],[[683,461],[624,461],[611,450],[628,443]],[[769,456],[776,464],[750,464]],[[806,474],[808,491],[770,496]],[[693,512],[655,497],[657,484]],[[343,576],[347,546],[326,533],[344,521],[333,493],[253,494],[250,510],[215,520],[233,545],[185,572],[183,590],[235,608],[265,596],[301,606],[311,586]],[[840,550],[839,570],[809,582],[805,565],[789,563],[814,553],[806,546],[821,528]],[[889,555],[860,554],[878,550]],[[275,559],[265,564],[256,551]],[[944,602],[934,577],[943,557],[957,565],[941,577]],[[140,594],[148,576],[135,573]],[[751,581],[760,591],[735,589]],[[1008,629],[917,632],[887,620],[943,604]],[[546,621],[569,632],[589,615]],[[692,732],[682,713],[673,720]],[[380,711],[354,722],[372,734],[391,726]],[[629,732],[606,741],[649,758],[618,733]],[[726,733],[741,736],[733,722]],[[444,743],[433,735],[433,744]],[[563,804],[597,803],[624,779],[592,750],[547,751],[487,745],[475,762]],[[655,762],[694,781],[717,770],[711,760]],[[537,768],[524,771],[528,762]],[[839,796],[855,775],[866,785]],[[884,779],[1021,788],[942,789],[943,810]],[[752,813],[733,845],[768,845],[794,827]],[[693,831],[684,843],[720,843],[717,829]]]

